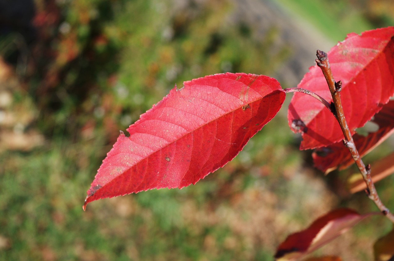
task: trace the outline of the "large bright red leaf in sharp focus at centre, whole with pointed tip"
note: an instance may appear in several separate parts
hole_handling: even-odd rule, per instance
[[[285,93],[263,75],[225,73],[184,82],[123,132],[85,205],[152,188],[182,188],[232,160],[279,111]]]

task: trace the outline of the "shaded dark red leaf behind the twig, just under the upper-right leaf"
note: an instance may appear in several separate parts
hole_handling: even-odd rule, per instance
[[[383,109],[375,114],[372,121],[379,125],[378,131],[372,132],[366,137],[359,134],[353,135],[353,140],[361,157],[372,151],[394,132],[394,101],[389,101],[383,106]],[[354,163],[349,149],[342,142],[316,149],[312,157],[315,167],[326,173],[335,170],[337,167],[339,170],[343,170]]]

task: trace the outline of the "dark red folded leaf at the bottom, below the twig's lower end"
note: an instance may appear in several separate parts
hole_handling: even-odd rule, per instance
[[[297,260],[332,241],[360,220],[372,214],[360,215],[351,209],[335,209],[316,219],[307,229],[289,235],[275,254],[280,260]]]

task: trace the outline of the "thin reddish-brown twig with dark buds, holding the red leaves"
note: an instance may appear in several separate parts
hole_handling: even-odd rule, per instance
[[[375,205],[378,209],[385,215],[387,218],[394,223],[394,215],[390,213],[390,211],[385,207],[382,201],[379,198],[379,195],[376,192],[376,188],[374,182],[371,178],[371,166],[364,165],[362,162],[359,151],[357,151],[356,145],[354,144],[353,137],[351,136],[351,132],[348,127],[348,123],[346,123],[344,110],[342,108],[342,101],[340,91],[342,89],[342,82],[335,82],[333,74],[331,72],[330,64],[328,62],[327,54],[323,51],[318,50],[316,56],[318,59],[316,60],[317,65],[322,69],[325,80],[327,81],[328,87],[331,92],[331,96],[333,97],[333,109],[334,116],[338,120],[338,123],[342,129],[342,132],[345,136],[343,140],[345,146],[349,149],[351,156],[356,162],[359,171],[364,178],[364,181],[367,185],[366,194],[370,199],[375,202]]]

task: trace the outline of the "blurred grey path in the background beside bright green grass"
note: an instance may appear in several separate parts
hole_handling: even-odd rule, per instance
[[[275,70],[273,76],[283,87],[296,87],[308,68],[315,65],[316,50],[328,52],[335,42],[327,39],[311,24],[303,21],[279,6],[274,0],[232,0],[236,11],[232,19],[251,25],[251,28],[264,37],[270,28],[279,30],[276,41],[278,46],[288,45],[290,57]]]

